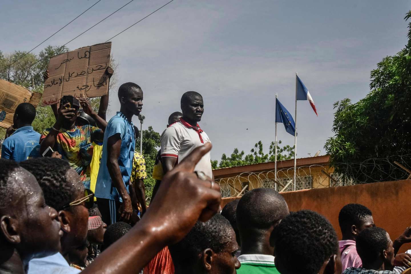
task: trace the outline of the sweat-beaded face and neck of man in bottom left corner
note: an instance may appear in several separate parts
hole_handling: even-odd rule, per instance
[[[7,194],[10,203],[0,208],[0,273],[25,273],[32,258],[60,250],[60,222],[57,212],[46,205],[35,177],[23,168],[9,175],[13,180]]]

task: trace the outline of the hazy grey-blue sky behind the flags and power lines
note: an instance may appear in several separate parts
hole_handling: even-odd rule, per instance
[[[62,45],[129,0],[102,0],[40,46]],[[0,50],[28,51],[97,0],[1,0]],[[69,43],[70,49],[106,41],[168,0],[135,0]],[[275,138],[275,93],[294,114],[295,72],[311,93],[298,101],[297,156],[321,150],[332,136],[335,101],[353,102],[369,92],[369,72],[406,44],[409,1],[174,0],[112,42],[119,83],[144,92],[143,127],[161,133],[181,95],[200,92],[199,123],[214,145],[212,159],[249,150],[259,140],[266,152]],[[112,91],[109,116],[119,109]],[[135,117],[134,123],[139,121]],[[247,130],[248,129],[248,130]],[[278,125],[278,138],[294,138]]]

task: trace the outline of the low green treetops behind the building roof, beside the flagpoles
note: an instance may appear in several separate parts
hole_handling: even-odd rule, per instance
[[[294,147],[285,145],[280,147],[281,140],[277,143],[277,161],[284,161],[294,158]],[[238,148],[235,148],[230,157],[224,153],[221,157],[221,161],[211,161],[211,166],[215,168],[226,168],[230,166],[245,166],[254,163],[266,163],[275,161],[275,143],[271,142],[269,152],[267,154],[263,151],[263,143],[259,141],[254,145],[254,148],[250,150],[250,153],[245,155],[244,150],[241,152]]]

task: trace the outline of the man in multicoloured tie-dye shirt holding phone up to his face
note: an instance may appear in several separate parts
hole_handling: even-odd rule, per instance
[[[76,126],[79,108],[93,117],[99,127],[91,125]],[[70,166],[79,173],[85,188],[90,188],[90,148],[92,142],[102,141],[107,122],[95,113],[90,102],[84,98],[78,100],[73,97],[73,105],[60,104],[58,118],[51,128],[44,129],[40,137],[40,153],[51,147],[61,154],[62,159],[70,163]]]

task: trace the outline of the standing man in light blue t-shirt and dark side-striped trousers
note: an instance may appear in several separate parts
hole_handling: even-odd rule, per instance
[[[134,136],[133,115],[143,108],[143,90],[134,83],[125,83],[118,89],[120,111],[110,119],[104,131],[103,154],[100,161],[95,196],[107,224],[128,222],[133,213],[129,195],[130,175],[133,168]],[[120,214],[117,214],[118,210]]]

